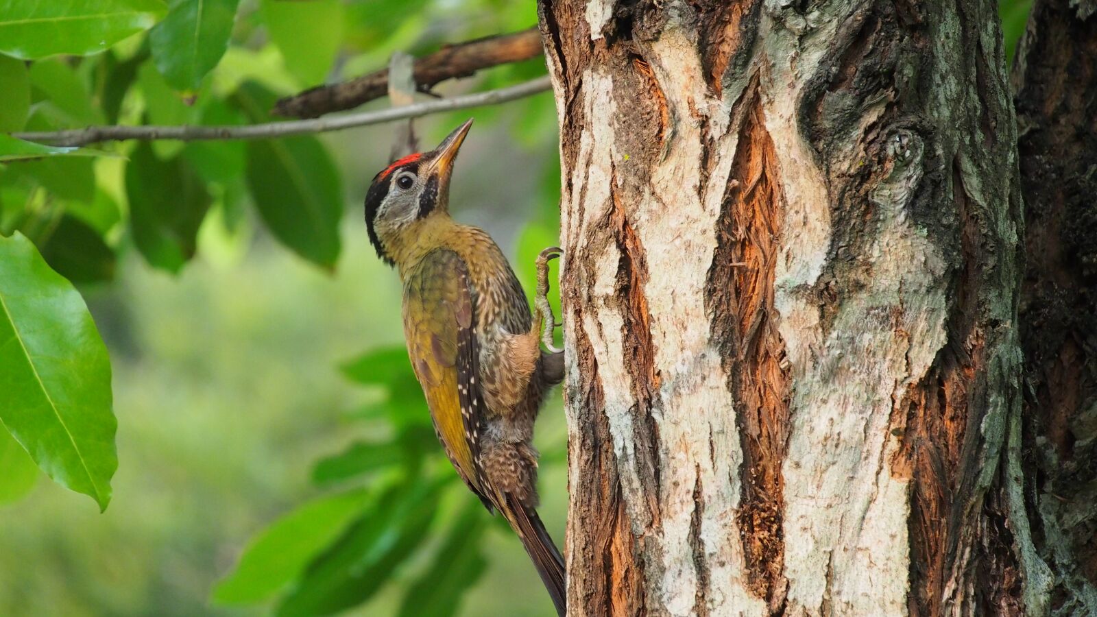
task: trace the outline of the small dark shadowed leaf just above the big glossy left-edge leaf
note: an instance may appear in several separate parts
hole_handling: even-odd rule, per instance
[[[114,278],[114,251],[95,229],[75,216],[61,216],[38,250],[50,268],[73,283]]]

